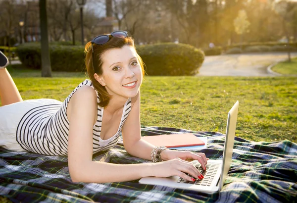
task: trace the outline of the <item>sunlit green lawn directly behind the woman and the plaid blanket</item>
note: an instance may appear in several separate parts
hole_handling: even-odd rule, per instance
[[[15,66],[16,67],[16,66]],[[9,68],[24,100],[63,101],[84,73]],[[153,77],[141,88],[141,124],[225,132],[228,110],[240,103],[236,135],[252,141],[297,142],[297,77]]]

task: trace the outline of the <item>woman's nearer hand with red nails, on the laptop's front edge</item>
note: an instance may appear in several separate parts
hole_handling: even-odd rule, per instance
[[[186,173],[188,173],[189,176]],[[196,179],[201,180],[203,178],[201,173],[192,163],[182,160],[181,158],[153,163],[152,176],[165,178],[173,175],[177,175],[188,181],[195,181]]]

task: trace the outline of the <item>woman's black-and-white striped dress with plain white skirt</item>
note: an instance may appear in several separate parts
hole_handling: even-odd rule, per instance
[[[8,122],[6,120],[3,126],[0,124],[0,146],[15,151],[30,151],[46,155],[67,155],[69,120],[66,109],[72,95],[84,85],[94,88],[92,82],[86,79],[63,102],[40,99],[1,106],[0,122],[4,120],[1,118],[2,115],[8,117]],[[99,102],[98,92],[96,91],[96,93]],[[36,102],[37,104],[35,104]],[[12,115],[10,115],[9,109],[19,112],[17,109],[20,108],[22,108],[23,114],[14,116],[15,119],[10,118]],[[97,121],[93,126],[93,153],[110,149],[117,144],[122,126],[131,111],[131,99],[129,98],[124,104],[116,134],[108,140],[100,138],[104,108],[98,105],[97,111]],[[9,119],[11,122],[9,122]],[[7,136],[5,136],[5,133]]]

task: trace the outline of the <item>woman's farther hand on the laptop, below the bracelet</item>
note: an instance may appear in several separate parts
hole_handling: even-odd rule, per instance
[[[174,158],[180,158],[186,161],[198,160],[204,170],[206,170],[205,165],[207,164],[207,160],[209,159],[206,158],[205,153],[199,152],[176,151],[167,149],[161,153],[162,160],[171,160]]]

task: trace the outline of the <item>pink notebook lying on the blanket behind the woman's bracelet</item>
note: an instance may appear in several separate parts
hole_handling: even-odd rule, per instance
[[[143,136],[142,139],[154,146],[165,146],[167,148],[199,146],[205,144],[192,133]]]

